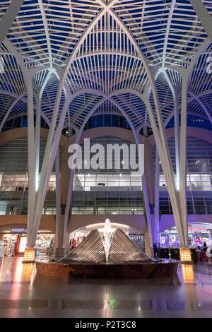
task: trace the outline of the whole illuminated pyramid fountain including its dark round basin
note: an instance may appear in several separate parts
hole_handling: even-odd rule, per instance
[[[119,228],[105,220],[102,234],[95,229],[62,259],[36,261],[37,272],[83,278],[149,278],[177,274],[178,261],[155,260],[136,247]]]

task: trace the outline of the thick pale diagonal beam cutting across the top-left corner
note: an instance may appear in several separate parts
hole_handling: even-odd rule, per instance
[[[0,21],[0,46],[4,42],[8,30],[10,30],[18,12],[20,11],[21,6],[23,5],[24,0],[12,0],[11,4],[8,6],[6,13],[1,18]]]

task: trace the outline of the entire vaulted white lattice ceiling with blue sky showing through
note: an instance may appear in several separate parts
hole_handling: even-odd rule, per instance
[[[203,1],[212,15],[211,1]],[[0,1],[0,18],[11,1]],[[170,85],[180,94],[178,68],[187,68],[206,32],[189,0],[25,0],[1,47],[5,71],[0,73],[0,121],[25,114],[25,83],[9,43],[28,69],[35,69],[33,87],[42,94],[42,116],[51,121],[59,76],[69,64],[59,115],[67,94],[75,94],[64,126],[80,129],[89,114],[108,110],[126,114],[135,129],[151,126],[146,106],[133,91],[150,95],[146,65],[158,71],[155,85],[162,119],[173,114]],[[212,76],[206,59],[212,44],[196,61],[189,83],[188,112],[211,120]],[[141,59],[146,61],[146,65]],[[180,98],[180,96],[179,96]],[[36,104],[35,104],[36,109]],[[58,119],[59,119],[58,115]]]

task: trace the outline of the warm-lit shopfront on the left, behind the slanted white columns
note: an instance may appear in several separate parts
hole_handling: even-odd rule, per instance
[[[27,243],[27,229],[11,227],[9,231],[0,232],[0,239],[4,242],[4,256],[23,256]],[[48,231],[38,231],[35,246],[37,256],[53,254],[53,246],[54,234]]]

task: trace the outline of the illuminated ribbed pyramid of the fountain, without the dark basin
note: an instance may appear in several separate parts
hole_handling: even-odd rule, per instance
[[[92,230],[76,249],[59,262],[111,265],[155,262],[155,259],[137,248],[123,230],[117,228],[112,231],[110,220],[106,219],[102,235],[99,230]]]

